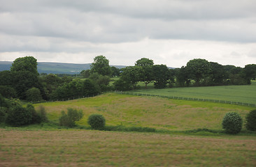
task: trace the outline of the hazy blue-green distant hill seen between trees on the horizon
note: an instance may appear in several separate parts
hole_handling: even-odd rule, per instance
[[[0,71],[10,70],[12,61],[0,61]],[[50,63],[38,62],[37,70],[39,73],[47,74],[79,74],[82,70],[90,69],[91,63],[87,64],[74,64],[74,63]],[[122,68],[124,65],[111,65],[114,67]]]

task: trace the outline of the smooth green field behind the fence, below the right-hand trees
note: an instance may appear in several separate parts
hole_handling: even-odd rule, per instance
[[[143,88],[143,87],[142,87]],[[256,103],[256,81],[245,86],[206,86],[164,89],[141,89],[132,91],[151,95],[191,97],[208,100],[227,100],[232,102]]]

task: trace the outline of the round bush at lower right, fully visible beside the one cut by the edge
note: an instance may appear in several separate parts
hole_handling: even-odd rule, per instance
[[[226,113],[222,120],[222,128],[225,129],[227,134],[238,134],[242,129],[242,125],[243,120],[239,113]]]

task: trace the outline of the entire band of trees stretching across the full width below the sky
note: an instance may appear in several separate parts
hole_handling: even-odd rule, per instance
[[[38,74],[36,58],[17,58],[10,70],[0,72],[0,94],[9,99],[41,102],[90,97],[109,90],[133,90],[138,88],[138,82],[143,82],[145,88],[150,83],[154,83],[154,88],[250,84],[256,78],[256,65],[242,68],[196,58],[186,66],[170,69],[141,58],[134,66],[118,69],[111,67],[105,56],[96,56],[90,70],[83,70],[80,76],[83,79]]]

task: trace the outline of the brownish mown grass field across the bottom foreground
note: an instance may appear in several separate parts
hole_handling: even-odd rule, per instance
[[[0,166],[255,166],[255,136],[0,129]]]

